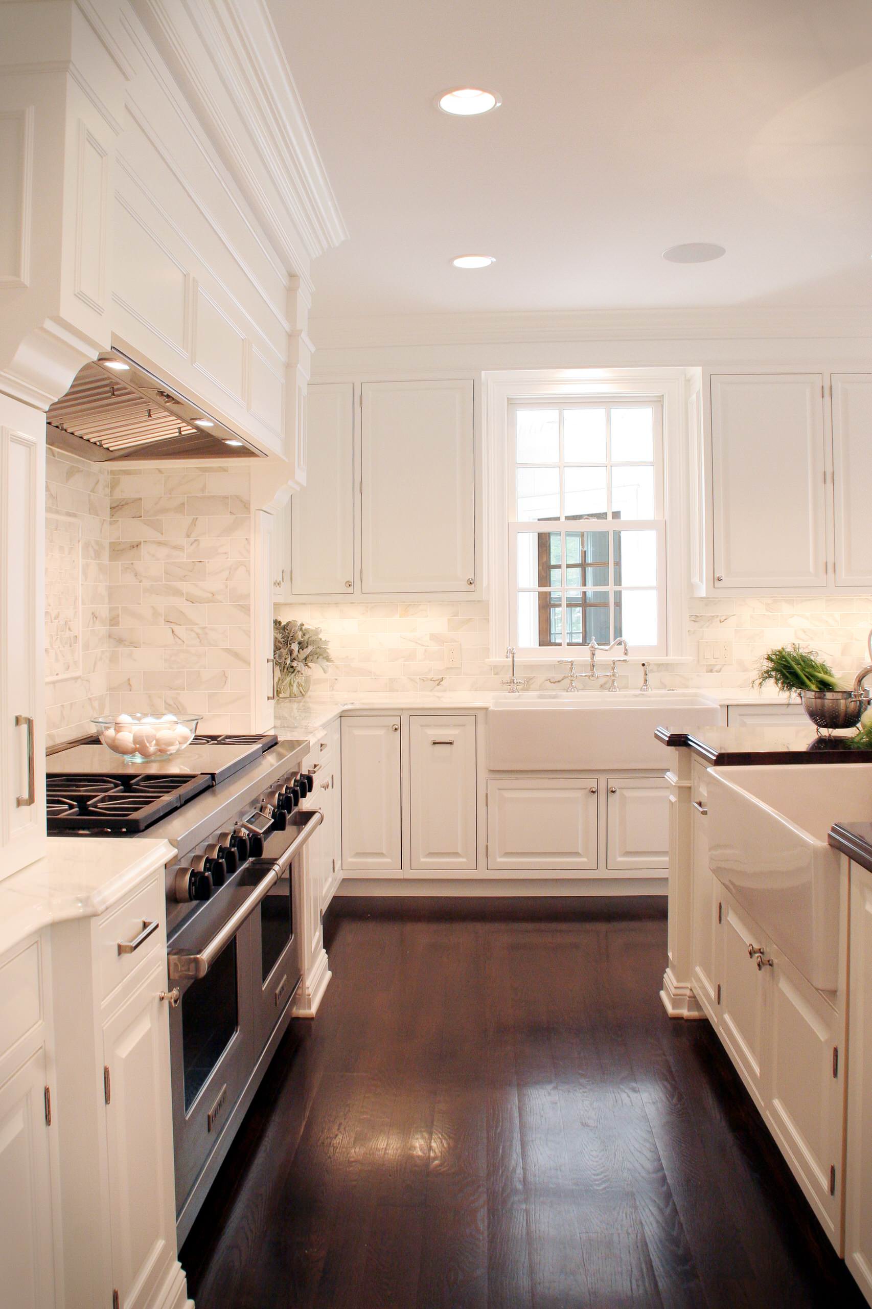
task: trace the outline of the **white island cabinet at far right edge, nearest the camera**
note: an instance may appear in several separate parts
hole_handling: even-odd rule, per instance
[[[845,1258],[872,1304],[872,874],[851,864]]]

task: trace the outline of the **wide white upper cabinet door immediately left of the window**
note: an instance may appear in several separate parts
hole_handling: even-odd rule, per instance
[[[475,590],[471,381],[364,382],[361,592]]]

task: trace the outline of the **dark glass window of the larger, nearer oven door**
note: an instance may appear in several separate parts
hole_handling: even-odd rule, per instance
[[[236,987],[236,940],[221,950],[182,1000],[185,1113],[206,1085],[240,1025]]]

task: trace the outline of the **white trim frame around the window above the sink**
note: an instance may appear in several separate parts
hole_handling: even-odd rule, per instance
[[[687,662],[687,395],[686,369],[547,369],[494,372],[482,376],[482,429],[484,458],[484,542],[486,586],[490,610],[491,662],[504,664],[509,644],[509,403],[568,399],[657,399],[663,404],[663,516],[668,524],[665,543],[666,649],[668,654],[648,656],[630,649],[630,661],[651,658],[657,664]],[[513,466],[513,463],[512,463]],[[577,526],[577,524],[576,524]],[[583,658],[585,645],[579,645]],[[564,657],[521,654],[522,662],[554,666]]]

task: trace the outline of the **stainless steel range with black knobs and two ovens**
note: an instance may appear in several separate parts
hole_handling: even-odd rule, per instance
[[[47,759],[54,835],[165,838],[173,1138],[179,1242],[289,1021],[300,986],[300,855],[319,810],[305,742],[195,737],[148,763],[96,738]],[[109,766],[107,766],[109,764]],[[153,931],[143,924],[143,939]]]

